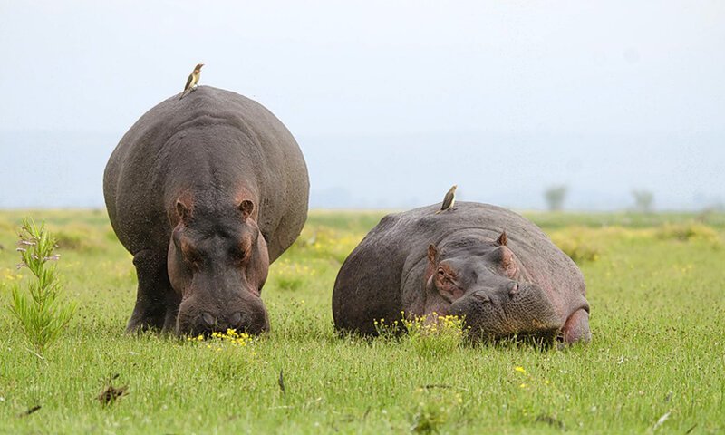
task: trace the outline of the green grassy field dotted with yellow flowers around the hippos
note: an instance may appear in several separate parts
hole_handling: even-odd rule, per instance
[[[527,215],[585,274],[594,338],[564,351],[338,338],[334,278],[374,212],[311,213],[270,269],[259,339],[123,334],[136,278],[102,210],[0,212],[3,305],[27,215],[59,238],[79,309],[44,360],[0,311],[0,433],[725,432],[722,214]],[[127,395],[102,406],[113,377]]]

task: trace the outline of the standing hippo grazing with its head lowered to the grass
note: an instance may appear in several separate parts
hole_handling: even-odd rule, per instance
[[[259,103],[209,86],[146,112],[106,166],[103,192],[139,278],[128,331],[269,328],[269,264],[307,218],[304,158]]]

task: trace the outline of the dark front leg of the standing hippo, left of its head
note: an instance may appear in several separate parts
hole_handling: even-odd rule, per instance
[[[162,329],[166,324],[173,324],[176,321],[169,321],[168,312],[171,314],[179,310],[179,303],[176,303],[176,310],[173,309],[175,293],[169,282],[169,274],[166,268],[166,255],[144,249],[133,256],[133,266],[136,266],[136,275],[139,279],[139,287],[136,294],[136,306],[126,326],[127,333],[146,331],[149,329]],[[172,326],[173,328],[173,326]]]

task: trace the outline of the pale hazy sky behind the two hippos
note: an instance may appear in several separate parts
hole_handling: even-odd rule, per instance
[[[121,136],[201,85],[264,104],[312,208],[725,204],[725,3],[0,0],[0,208],[103,207]]]

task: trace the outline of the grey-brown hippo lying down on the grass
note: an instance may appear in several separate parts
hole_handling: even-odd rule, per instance
[[[382,218],[345,260],[333,291],[338,330],[462,316],[474,338],[591,338],[584,278],[536,225],[505,208],[440,204]]]

